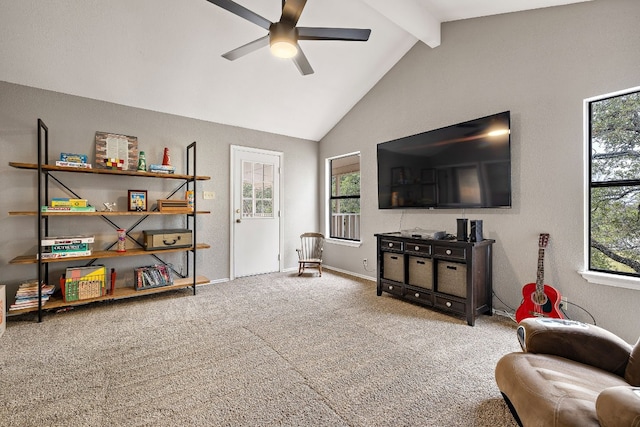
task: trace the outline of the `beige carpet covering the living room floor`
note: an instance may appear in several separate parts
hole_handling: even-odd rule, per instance
[[[10,319],[0,426],[515,426],[515,325],[325,271]]]

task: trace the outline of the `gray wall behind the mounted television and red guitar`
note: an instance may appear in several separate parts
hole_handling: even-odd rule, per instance
[[[485,238],[496,240],[495,293],[516,308],[522,286],[536,280],[538,235],[548,232],[546,282],[599,325],[635,342],[640,293],[587,283],[578,271],[583,100],[640,85],[638,22],[637,0],[596,0],[446,23],[441,46],[417,44],[321,141],[321,164],[362,152],[363,244],[328,245],[327,264],[373,277],[362,259],[375,260],[374,233],[413,227],[455,233],[456,218],[482,219]],[[512,114],[511,209],[377,209],[376,144],[505,110]],[[590,320],[571,305],[569,314]]]

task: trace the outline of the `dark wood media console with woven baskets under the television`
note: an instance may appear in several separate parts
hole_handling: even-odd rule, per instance
[[[492,246],[495,240],[460,242],[380,233],[378,296],[382,292],[463,315],[470,326],[492,315]]]

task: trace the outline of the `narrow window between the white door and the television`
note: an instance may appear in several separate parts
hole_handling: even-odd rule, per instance
[[[332,239],[360,240],[360,153],[327,160],[328,222]]]

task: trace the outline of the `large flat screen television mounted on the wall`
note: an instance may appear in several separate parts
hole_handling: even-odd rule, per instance
[[[511,207],[510,112],[378,144],[378,206]]]

